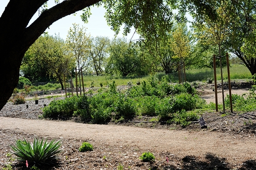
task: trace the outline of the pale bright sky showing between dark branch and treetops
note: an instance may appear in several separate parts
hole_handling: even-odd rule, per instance
[[[0,0],[0,15],[2,15],[5,7],[7,6],[9,0]],[[49,0],[48,8],[54,6],[54,0]],[[103,7],[92,7],[91,8],[91,17],[89,18],[89,22],[87,24],[83,23],[80,18],[82,11],[78,11],[76,16],[69,15],[67,17],[61,18],[60,20],[54,22],[50,29],[46,31],[50,35],[59,34],[61,38],[66,39],[69,28],[72,27],[73,23],[79,24],[80,26],[84,26],[87,28],[87,33],[93,37],[96,36],[105,36],[109,38],[113,38],[115,33],[111,30],[111,28],[107,25],[107,22],[104,18],[105,9]],[[36,13],[32,20],[35,20],[38,17],[38,13]],[[130,33],[126,38],[131,39],[134,31]],[[122,37],[122,32],[119,33],[118,37]],[[133,40],[138,39],[139,35],[135,34]]]

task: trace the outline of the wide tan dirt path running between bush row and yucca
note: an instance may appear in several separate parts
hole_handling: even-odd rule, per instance
[[[33,133],[54,139],[78,139],[104,142],[109,146],[140,148],[143,150],[168,151],[174,155],[195,155],[206,153],[225,157],[227,161],[242,162],[254,159],[256,138],[233,137],[220,132],[175,131],[165,129],[144,129],[129,126],[82,124],[48,120],[27,120],[0,117],[0,129]]]

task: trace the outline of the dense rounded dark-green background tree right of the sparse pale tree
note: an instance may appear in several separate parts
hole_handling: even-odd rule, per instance
[[[140,69],[138,48],[132,42],[128,43],[124,38],[113,39],[109,48],[109,59],[106,71],[114,72],[125,77],[128,74],[136,74]]]

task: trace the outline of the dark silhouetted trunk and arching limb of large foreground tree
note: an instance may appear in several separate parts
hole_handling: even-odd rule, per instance
[[[10,0],[0,17],[0,109],[4,107],[17,86],[22,58],[33,42],[56,20],[100,0],[65,0],[45,10],[28,26],[28,22],[39,7],[47,1]]]

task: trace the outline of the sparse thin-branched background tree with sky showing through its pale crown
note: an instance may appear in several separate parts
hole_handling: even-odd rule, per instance
[[[95,70],[96,75],[99,76],[104,72],[106,58],[109,56],[109,39],[108,37],[91,38],[90,47],[91,67]]]

